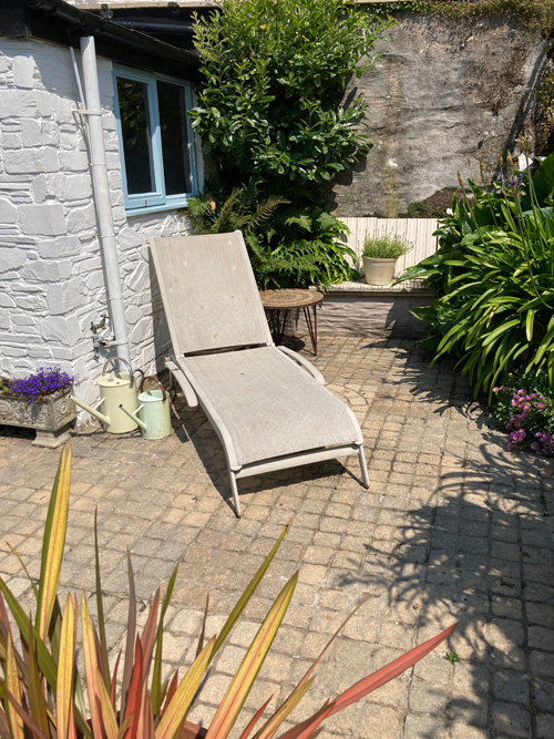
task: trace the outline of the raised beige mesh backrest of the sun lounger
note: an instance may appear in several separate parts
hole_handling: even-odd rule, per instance
[[[239,230],[151,240],[177,356],[271,342]]]

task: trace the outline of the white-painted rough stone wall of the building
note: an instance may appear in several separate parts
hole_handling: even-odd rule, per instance
[[[132,361],[152,372],[170,338],[147,242],[188,224],[175,211],[126,216],[110,60],[99,73]],[[66,48],[0,39],[0,373],[60,365],[91,402],[109,355],[94,358],[90,325],[107,306],[76,101]]]

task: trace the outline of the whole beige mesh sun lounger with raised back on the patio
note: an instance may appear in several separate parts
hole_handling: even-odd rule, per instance
[[[306,359],[274,345],[240,232],[151,247],[173,342],[167,368],[222,441],[236,514],[240,478],[348,454],[369,487],[355,414]]]

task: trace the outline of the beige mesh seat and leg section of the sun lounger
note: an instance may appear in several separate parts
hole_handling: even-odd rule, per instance
[[[345,404],[274,347],[184,363],[227,427],[239,464],[357,440]]]

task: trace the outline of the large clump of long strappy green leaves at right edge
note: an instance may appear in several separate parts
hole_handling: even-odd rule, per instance
[[[493,192],[470,181],[473,204],[465,191],[453,198],[437,232],[439,250],[401,277],[423,277],[438,295],[413,310],[429,322],[434,359],[456,357],[475,394],[483,390],[489,400],[519,366],[546,372],[554,386],[554,155],[533,178],[529,161],[525,172],[511,157],[507,166]]]

